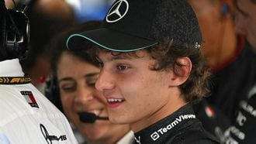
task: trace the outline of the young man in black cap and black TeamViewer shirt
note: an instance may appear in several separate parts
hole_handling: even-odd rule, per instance
[[[102,29],[70,36],[67,47],[91,43],[109,119],[130,124],[137,143],[217,143],[191,105],[208,92],[201,41],[185,0],[118,0]]]

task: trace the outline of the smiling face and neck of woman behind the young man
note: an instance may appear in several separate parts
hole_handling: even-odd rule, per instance
[[[129,131],[128,125],[113,125],[102,120],[84,123],[79,120],[78,112],[82,111],[92,112],[100,117],[108,116],[106,99],[101,92],[95,90],[99,67],[64,52],[57,65],[57,77],[64,113],[88,142],[116,142]]]

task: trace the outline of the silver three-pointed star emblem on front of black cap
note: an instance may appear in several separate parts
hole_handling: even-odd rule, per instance
[[[106,15],[106,22],[117,22],[122,19],[129,9],[129,3],[126,0],[119,0],[109,9]]]

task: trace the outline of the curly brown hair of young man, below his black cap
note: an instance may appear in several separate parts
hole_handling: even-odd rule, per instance
[[[105,49],[99,46],[94,46],[94,49],[90,49],[88,53],[96,57],[99,51]],[[172,40],[167,40],[164,43],[159,43],[157,46],[144,49],[150,54],[156,63],[150,70],[171,70],[174,67],[182,67],[182,63],[177,63],[180,57],[189,57],[192,61],[192,70],[189,78],[179,88],[184,96],[184,100],[187,102],[196,103],[202,98],[209,96],[209,79],[211,76],[211,70],[206,64],[206,60],[202,56],[201,48],[195,48],[195,46],[175,46]],[[109,51],[109,50],[106,50]],[[119,55],[124,52],[112,52],[112,55]],[[140,57],[137,55],[137,51],[127,52],[131,57]]]

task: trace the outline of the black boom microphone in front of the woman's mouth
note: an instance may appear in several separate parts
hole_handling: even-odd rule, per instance
[[[99,117],[90,112],[79,112],[79,119],[81,122],[94,123],[96,120],[109,120],[108,117]]]

